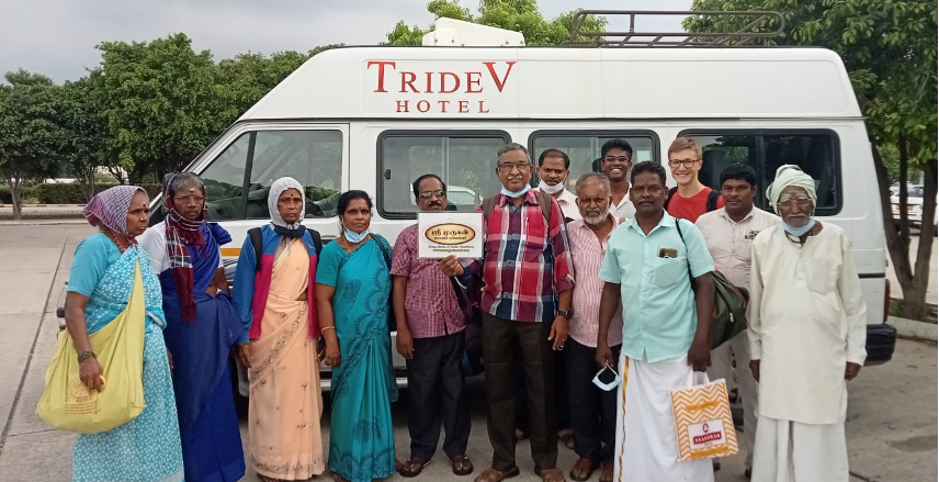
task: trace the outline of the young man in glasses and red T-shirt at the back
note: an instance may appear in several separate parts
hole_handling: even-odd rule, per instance
[[[668,190],[665,210],[674,217],[694,223],[698,216],[724,208],[721,192],[698,180],[702,157],[701,144],[690,137],[678,137],[668,146],[668,167],[678,187]]]

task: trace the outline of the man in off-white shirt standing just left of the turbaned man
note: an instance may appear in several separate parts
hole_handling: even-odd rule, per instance
[[[757,172],[747,165],[728,166],[721,172],[721,195],[724,208],[702,214],[694,223],[714,265],[727,281],[736,287],[750,285],[750,251],[759,232],[779,224],[779,216],[754,205],[757,195]],[[731,363],[736,360],[736,368]],[[745,475],[754,466],[754,440],[757,429],[757,381],[750,374],[750,348],[746,332],[711,351],[708,378],[726,379],[737,383],[737,395],[744,405]]]

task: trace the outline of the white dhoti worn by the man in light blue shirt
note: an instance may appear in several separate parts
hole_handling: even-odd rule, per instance
[[[688,357],[648,363],[620,357],[624,373],[616,404],[616,482],[713,482],[711,459],[678,461],[671,390],[691,385]]]

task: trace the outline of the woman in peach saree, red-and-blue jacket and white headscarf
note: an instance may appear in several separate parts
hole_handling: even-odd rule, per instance
[[[251,381],[248,450],[265,482],[307,480],[325,470],[316,354],[320,334],[309,302],[317,253],[312,231],[301,224],[305,204],[299,182],[274,181],[268,195],[271,224],[261,227],[261,256],[249,235],[235,272],[235,309],[247,328],[238,354]]]

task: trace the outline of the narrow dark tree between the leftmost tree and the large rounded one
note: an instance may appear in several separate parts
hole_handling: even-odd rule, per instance
[[[56,99],[56,122],[61,130],[60,157],[89,201],[94,195],[98,168],[110,164],[104,99],[104,75],[100,69],[75,82],[66,82]]]

